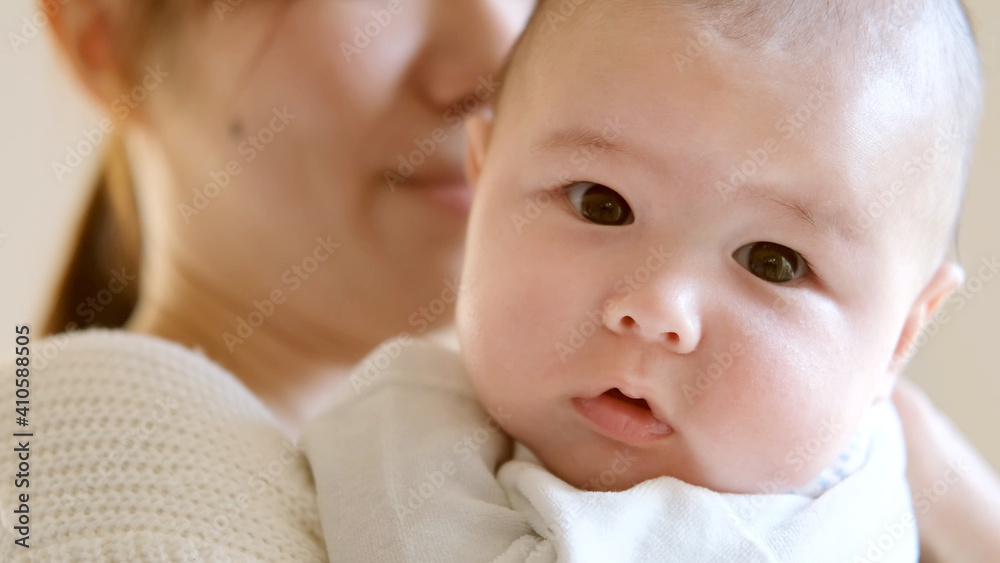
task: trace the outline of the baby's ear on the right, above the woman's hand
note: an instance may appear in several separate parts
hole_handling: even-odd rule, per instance
[[[930,283],[920,292],[910,308],[910,314],[906,317],[903,332],[899,336],[899,342],[897,342],[896,350],[893,353],[887,381],[879,390],[878,399],[888,399],[892,395],[896,379],[902,374],[903,368],[917,351],[916,341],[920,331],[931,322],[941,305],[964,281],[965,270],[961,266],[950,260],[941,263]]]

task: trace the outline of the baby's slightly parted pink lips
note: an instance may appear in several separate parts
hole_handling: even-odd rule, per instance
[[[610,389],[590,399],[573,399],[573,407],[608,438],[639,446],[673,434],[643,399],[632,399]]]

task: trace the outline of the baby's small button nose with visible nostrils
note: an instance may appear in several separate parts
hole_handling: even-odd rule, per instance
[[[701,342],[701,315],[693,280],[661,271],[612,298],[604,316],[612,332],[690,354]]]

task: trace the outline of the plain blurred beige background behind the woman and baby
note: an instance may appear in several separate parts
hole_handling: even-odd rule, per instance
[[[988,78],[986,115],[962,222],[962,262],[972,278],[983,258],[1000,255],[1000,2],[967,4],[979,31]],[[38,321],[98,160],[97,154],[89,155],[61,181],[52,170],[53,161],[64,161],[67,146],[82,141],[82,131],[97,127],[102,116],[62,72],[47,29],[34,37],[24,33],[31,30],[25,30],[22,18],[30,20],[37,11],[31,0],[0,3],[0,154],[5,178],[0,187],[0,347],[8,330],[13,341],[15,324]],[[27,43],[15,49],[11,34]],[[909,375],[1000,468],[998,316],[1000,276],[985,281],[961,311],[952,311],[920,350]]]

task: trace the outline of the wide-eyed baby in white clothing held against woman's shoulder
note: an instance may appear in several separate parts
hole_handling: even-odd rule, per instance
[[[305,435],[332,559],[914,561],[888,398],[981,88],[952,0],[541,2],[460,360],[401,339]]]

